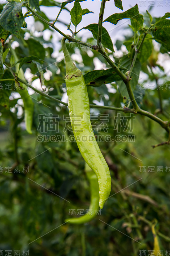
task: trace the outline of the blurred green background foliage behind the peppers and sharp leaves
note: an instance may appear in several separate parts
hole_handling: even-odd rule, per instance
[[[46,28],[44,24],[44,30]],[[25,33],[29,33],[29,36],[25,37]],[[78,36],[76,38],[81,40]],[[13,45],[19,59],[33,55],[44,60],[24,63],[22,68],[27,74],[26,78],[36,80],[34,86],[35,82],[39,86],[39,76],[42,76],[38,69],[40,65],[43,73],[49,76],[44,75],[42,87],[49,95],[64,101],[65,62],[61,50],[58,52],[61,52],[61,57],[56,60],[53,56],[55,46],[52,39],[53,33],[49,41],[46,41],[42,33],[35,36],[25,28],[21,30],[20,39],[10,36],[4,44],[4,51]],[[129,50],[132,41],[132,32],[124,36],[124,42],[117,40],[114,49],[121,52],[121,57],[105,50],[115,58],[115,62],[125,65],[122,63],[128,58],[127,51],[122,52],[121,46],[124,44]],[[95,44],[96,41],[91,37],[88,42]],[[104,69],[110,68],[98,52],[77,48],[76,44],[71,47],[71,44],[67,44],[68,50],[83,74],[95,69],[96,58],[103,63]],[[153,46],[148,36],[139,60],[142,64],[140,76],[146,77],[143,78],[143,84],[149,82],[155,87],[141,89],[141,84],[135,84],[134,94],[135,97],[140,96],[137,100],[141,108],[168,120],[170,94],[165,85],[169,78],[164,68],[156,62],[160,52],[165,57],[169,57],[169,53],[159,44]],[[75,58],[75,53],[79,58]],[[5,63],[11,67],[14,64],[10,51]],[[4,74],[1,73],[1,79],[10,77],[13,78],[7,69]],[[156,79],[158,81],[159,77],[163,84],[161,90],[156,88]],[[117,86],[119,83],[101,82],[99,87],[88,86],[90,103],[115,107],[124,106],[125,103],[132,107],[120,94],[120,86]],[[168,140],[168,134],[163,128],[145,116],[136,115],[131,133],[125,132],[123,128],[118,131],[114,129],[115,124],[118,122],[120,125],[122,120],[115,118],[117,111],[91,108],[91,114],[109,116],[107,135],[113,141],[98,144],[110,168],[110,198],[101,214],[89,223],[79,226],[63,224],[69,217],[70,209],[74,209],[76,215],[79,209],[85,213],[90,202],[84,160],[76,143],[48,140],[51,135],[64,135],[67,138],[73,135],[71,130],[64,132],[64,115],[68,116],[68,109],[28,89],[34,102],[33,134],[29,135],[25,131],[22,100],[15,92],[14,83],[8,82],[11,84],[10,90],[2,89],[6,84],[5,81],[1,82],[0,89],[0,249],[29,250],[29,255],[37,256],[145,255],[140,254],[141,250],[148,255],[148,251],[154,249],[152,224],[156,219],[158,223],[155,229],[160,249],[164,252],[162,255],[169,255],[165,252],[167,250],[170,253],[170,148],[169,145],[154,149],[151,147]],[[131,114],[119,113],[121,117],[131,118]],[[42,120],[39,121],[39,115],[44,114],[53,116],[53,125],[59,124],[57,131],[39,130],[39,127],[44,127]],[[46,123],[44,128],[50,127],[47,125],[50,124]],[[106,135],[103,130],[94,132],[96,135]],[[129,134],[134,135],[134,142],[114,141],[116,135]],[[39,135],[45,135],[46,140],[40,140]],[[149,171],[151,166],[154,172]]]

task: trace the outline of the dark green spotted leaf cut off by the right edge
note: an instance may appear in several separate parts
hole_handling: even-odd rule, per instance
[[[170,51],[170,20],[162,20],[155,25],[155,29],[152,32],[154,39],[162,44],[168,52]]]

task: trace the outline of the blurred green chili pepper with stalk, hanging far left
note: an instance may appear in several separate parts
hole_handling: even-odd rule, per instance
[[[11,49],[11,53],[14,57],[14,61],[16,63],[18,61],[17,54],[12,49],[12,47],[10,47],[10,49]],[[16,70],[16,73],[18,74],[18,77],[25,81],[24,71],[22,68],[19,69],[19,63],[17,63],[15,65],[15,67],[16,67],[15,70]],[[18,83],[18,81],[15,81],[15,82]],[[33,119],[34,104],[32,102],[32,99],[31,99],[27,89],[24,88],[24,84],[20,83],[18,87],[20,87],[20,88],[17,89],[16,91],[21,95],[21,98],[24,103],[25,128],[26,128],[26,131],[31,134],[32,133],[32,119]],[[24,89],[22,89],[22,88],[24,88]]]

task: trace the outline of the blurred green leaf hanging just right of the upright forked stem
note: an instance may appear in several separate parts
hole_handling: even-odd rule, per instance
[[[144,63],[152,54],[152,36],[150,34],[147,34],[145,37],[145,40],[142,44],[142,47],[140,49],[140,53],[138,54],[138,59],[140,60],[141,64]]]

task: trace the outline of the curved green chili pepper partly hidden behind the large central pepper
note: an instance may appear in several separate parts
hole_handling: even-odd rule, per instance
[[[88,164],[85,163],[85,172],[90,183],[90,206],[89,212],[79,218],[66,219],[69,223],[82,224],[95,218],[99,210],[99,185],[96,174]]]

